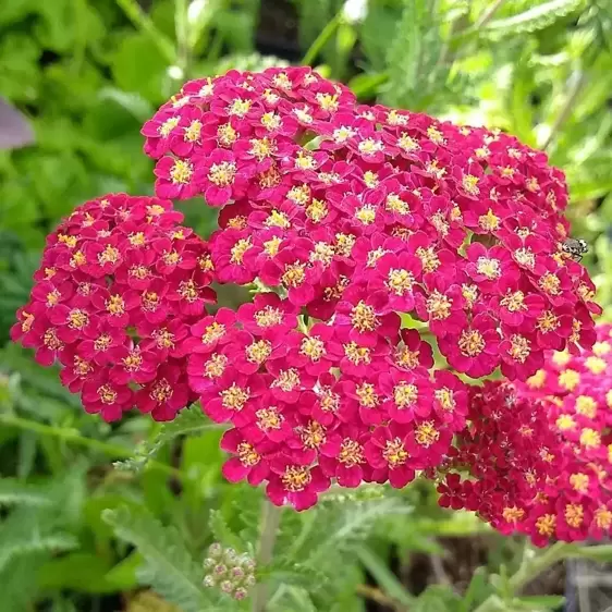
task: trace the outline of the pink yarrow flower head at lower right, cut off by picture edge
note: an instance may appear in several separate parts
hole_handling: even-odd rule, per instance
[[[547,355],[526,383],[472,388],[469,426],[443,466],[443,506],[538,546],[610,535],[612,327],[597,335],[590,351]]]

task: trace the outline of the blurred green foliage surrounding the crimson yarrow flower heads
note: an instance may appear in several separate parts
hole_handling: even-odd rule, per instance
[[[0,151],[2,612],[173,610],[143,595],[148,586],[185,612],[248,609],[215,608],[200,588],[210,541],[245,551],[257,539],[260,494],[222,480],[220,431],[192,412],[166,429],[144,417],[111,427],[7,342],[58,220],[105,192],[151,193],[139,128],[185,79],[310,63],[365,102],[500,127],[543,148],[566,172],[573,232],[591,247],[584,262],[610,319],[611,32],[610,0],[1,2],[0,96],[36,135]],[[186,213],[203,234],[215,223],[197,203]],[[113,468],[137,444],[136,460]],[[286,515],[269,610],[473,610],[493,587],[481,573],[456,575],[456,542],[472,542],[468,574],[512,566],[522,543],[449,517],[431,493],[375,491]]]

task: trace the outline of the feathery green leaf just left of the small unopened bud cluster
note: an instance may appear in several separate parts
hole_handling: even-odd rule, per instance
[[[201,585],[203,570],[196,563],[174,527],[163,527],[148,513],[132,514],[126,507],[107,510],[103,519],[121,539],[134,544],[145,560],[140,579],[184,612],[201,612],[211,605]]]

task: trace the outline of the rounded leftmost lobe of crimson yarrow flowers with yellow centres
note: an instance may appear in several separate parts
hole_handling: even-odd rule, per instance
[[[30,301],[11,336],[88,413],[114,420],[137,406],[170,420],[197,399],[183,339],[215,302],[206,243],[172,203],[123,194],[78,207],[47,238]]]

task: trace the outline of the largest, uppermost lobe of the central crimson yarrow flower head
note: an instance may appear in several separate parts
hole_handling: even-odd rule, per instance
[[[223,207],[221,282],[259,279],[320,320],[376,295],[473,378],[525,379],[544,350],[591,339],[563,174],[512,136],[359,106],[308,68],[192,81],[143,133],[158,196]]]

